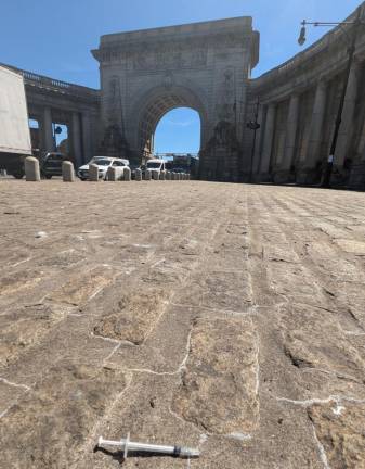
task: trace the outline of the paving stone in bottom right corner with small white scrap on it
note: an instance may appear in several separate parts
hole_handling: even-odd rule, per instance
[[[315,404],[308,414],[327,467],[365,468],[365,403],[341,401]]]

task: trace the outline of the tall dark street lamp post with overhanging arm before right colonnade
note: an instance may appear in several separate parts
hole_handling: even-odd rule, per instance
[[[300,29],[300,35],[298,38],[298,43],[300,46],[303,46],[305,40],[307,40],[307,37],[305,37],[307,36],[305,26],[307,25],[313,25],[313,26],[353,25],[354,26],[354,28],[352,30],[352,37],[350,39],[350,43],[349,43],[349,48],[348,48],[349,59],[348,59],[348,63],[347,63],[347,67],[346,67],[344,84],[343,84],[343,89],[341,92],[341,99],[340,99],[340,103],[339,103],[339,107],[338,107],[338,113],[337,113],[337,118],[336,118],[336,124],[335,124],[335,130],[334,130],[334,137],[333,137],[333,141],[331,141],[331,145],[330,145],[327,165],[326,165],[326,168],[324,170],[323,178],[321,181],[322,187],[329,187],[329,185],[330,185],[330,177],[331,177],[333,167],[334,167],[334,157],[335,157],[337,140],[338,140],[338,136],[339,136],[340,125],[341,125],[341,121],[342,121],[342,112],[343,112],[343,106],[344,106],[346,92],[347,92],[349,78],[350,78],[351,66],[352,66],[352,63],[354,61],[354,55],[355,55],[355,50],[356,50],[356,40],[357,40],[359,29],[360,29],[361,25],[365,25],[365,22],[362,21],[361,17],[362,17],[362,7],[359,7],[356,18],[354,21],[338,22],[338,23],[334,22],[333,23],[333,22],[307,22],[304,20],[301,23],[302,27]]]

